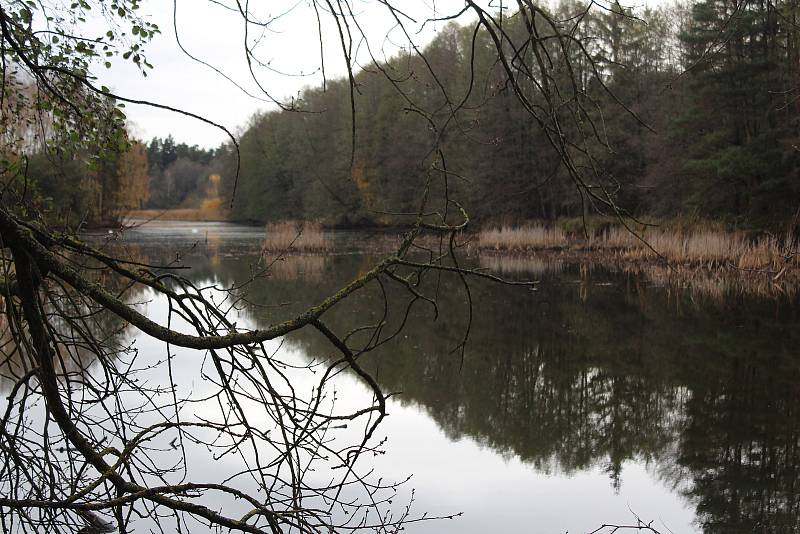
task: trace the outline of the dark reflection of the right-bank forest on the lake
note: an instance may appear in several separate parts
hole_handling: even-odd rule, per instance
[[[198,280],[230,286],[263,265],[257,244],[202,247],[184,257]],[[150,255],[165,259],[160,248]],[[280,262],[248,286],[246,311],[256,323],[275,322],[370,261]],[[484,266],[541,283],[536,291],[473,285],[477,320],[462,359],[452,349],[466,330],[466,295],[456,280],[437,280],[439,319],[413,308],[404,337],[365,363],[385,390],[402,392],[402,403],[423,410],[451,440],[474,439],[543,473],[599,468],[608,490],[618,491],[628,483],[624,466],[647,465],[694,507],[706,532],[800,529],[795,297],[725,290],[698,299],[663,280],[596,267]],[[374,322],[382,313],[377,293],[338,305],[330,326],[347,332]],[[408,301],[398,289],[390,297]],[[390,312],[390,324],[403,309]],[[309,357],[329,350],[310,332],[289,343]]]

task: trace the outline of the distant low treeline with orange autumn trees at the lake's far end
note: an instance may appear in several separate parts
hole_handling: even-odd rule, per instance
[[[30,122],[40,128],[41,116]],[[27,199],[51,222],[106,225],[138,209],[197,207],[214,189],[209,178],[218,172],[226,147],[203,149],[176,143],[172,136],[148,144],[126,134],[112,150],[72,153],[63,150],[50,133],[23,131],[16,138],[32,145],[26,163],[26,183],[19,184]],[[5,157],[14,157],[14,143],[4,144]],[[102,153],[101,153],[102,152]]]

